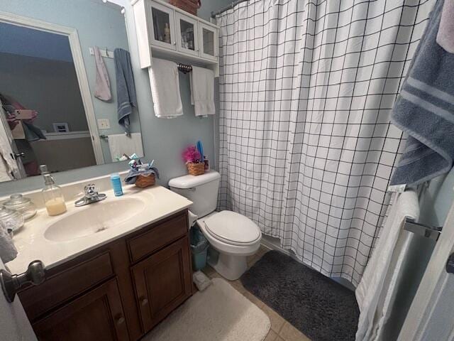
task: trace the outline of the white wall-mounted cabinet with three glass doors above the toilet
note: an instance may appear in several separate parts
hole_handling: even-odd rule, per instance
[[[152,55],[218,68],[218,27],[160,0],[133,2],[140,67]]]

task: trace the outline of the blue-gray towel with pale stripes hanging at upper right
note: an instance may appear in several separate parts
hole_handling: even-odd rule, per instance
[[[453,167],[454,55],[436,43],[441,9],[438,0],[392,111],[409,139],[391,185],[418,185]]]

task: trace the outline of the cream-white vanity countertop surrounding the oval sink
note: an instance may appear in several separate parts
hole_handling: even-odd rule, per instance
[[[162,186],[140,189],[134,185],[123,186],[124,195],[115,197],[112,190],[103,191],[106,200],[91,205],[103,205],[104,202],[118,198],[137,197],[146,202],[145,208],[130,219],[116,224],[101,232],[78,237],[65,242],[52,242],[44,237],[45,230],[50,224],[57,222],[67,215],[89,208],[91,205],[74,207],[74,202],[67,202],[67,212],[56,217],[49,217],[45,209],[38,210],[33,219],[16,231],[13,242],[18,249],[18,256],[6,264],[12,274],[21,274],[27,270],[28,264],[34,260],[43,261],[47,269],[74,259],[80,254],[96,249],[114,239],[136,231],[162,218],[186,209],[192,202],[177,193]],[[96,217],[94,217],[94,220]]]

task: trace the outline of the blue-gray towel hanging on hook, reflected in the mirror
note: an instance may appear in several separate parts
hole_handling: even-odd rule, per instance
[[[129,115],[133,113],[133,107],[137,108],[131,55],[122,48],[116,48],[114,50],[114,58],[118,124],[121,124],[125,133],[129,135],[131,133]]]

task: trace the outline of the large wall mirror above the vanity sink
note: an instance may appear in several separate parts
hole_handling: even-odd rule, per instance
[[[55,173],[142,157],[131,77],[116,72],[131,65],[121,7],[102,0],[4,4],[0,182],[39,175],[41,164]],[[119,119],[125,105],[129,124]]]

